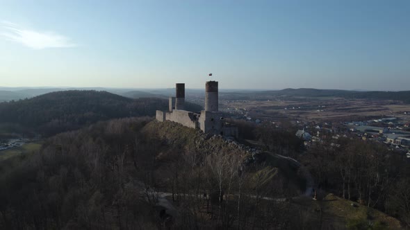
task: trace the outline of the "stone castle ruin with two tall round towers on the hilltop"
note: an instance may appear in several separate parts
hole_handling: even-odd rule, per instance
[[[175,97],[170,97],[168,111],[156,111],[156,120],[174,121],[186,127],[200,129],[205,133],[238,137],[238,127],[224,122],[218,111],[218,82],[205,84],[205,109],[199,113],[189,112],[185,108],[185,84],[176,84]]]

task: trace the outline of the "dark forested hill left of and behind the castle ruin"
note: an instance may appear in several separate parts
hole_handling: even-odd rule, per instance
[[[111,118],[155,116],[157,109],[167,108],[168,101],[162,98],[131,99],[92,90],[56,91],[0,103],[0,123],[17,123],[51,135]],[[199,111],[202,107],[186,103],[186,109]]]

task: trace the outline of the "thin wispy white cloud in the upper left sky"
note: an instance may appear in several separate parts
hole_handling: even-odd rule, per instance
[[[54,32],[42,32],[23,28],[9,21],[1,21],[0,36],[13,42],[18,42],[33,49],[67,48],[76,44],[71,39]]]

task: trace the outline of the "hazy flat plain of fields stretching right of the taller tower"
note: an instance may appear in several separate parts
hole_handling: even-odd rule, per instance
[[[275,121],[293,118],[300,121],[352,121],[356,118],[395,116],[410,120],[410,105],[393,100],[345,98],[289,98],[272,100],[221,101],[224,111],[253,119]],[[407,112],[407,114],[404,114]]]

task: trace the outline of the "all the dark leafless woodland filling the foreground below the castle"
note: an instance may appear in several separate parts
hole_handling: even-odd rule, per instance
[[[278,139],[285,130],[243,126],[265,150],[305,164],[318,200],[332,192],[410,227],[409,166],[400,156],[352,140],[340,141],[343,147],[303,150],[290,132]],[[176,123],[148,117],[101,121],[51,136],[38,152],[0,162],[0,228],[335,227],[332,215],[320,206],[311,209],[325,202],[304,197],[303,186],[269,158],[250,159],[255,157],[238,144]],[[297,177],[301,173],[295,171]],[[371,218],[340,229],[386,227]]]

